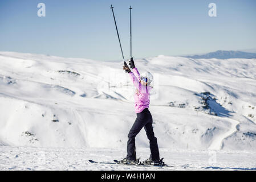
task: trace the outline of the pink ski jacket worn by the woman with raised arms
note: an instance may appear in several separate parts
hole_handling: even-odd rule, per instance
[[[136,88],[136,92],[134,94],[135,113],[140,113],[145,108],[149,108],[150,92],[152,90],[152,87],[151,86],[143,86],[140,83],[140,73],[138,72],[137,68],[133,68],[132,71],[129,72],[128,74],[131,77],[133,85]]]

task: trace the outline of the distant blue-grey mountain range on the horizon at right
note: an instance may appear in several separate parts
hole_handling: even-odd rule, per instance
[[[193,55],[193,56],[183,56],[183,57],[190,57],[193,59],[230,59],[230,58],[245,58],[245,59],[252,59],[256,58],[256,53],[250,52],[242,52],[242,51],[216,51],[216,52],[209,52],[204,55]]]

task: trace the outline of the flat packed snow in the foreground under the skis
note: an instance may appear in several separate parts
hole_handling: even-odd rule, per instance
[[[63,148],[63,147],[0,147],[0,170],[256,170],[255,151],[173,150],[160,148],[168,166],[128,166],[123,164],[94,164],[122,159],[125,148]],[[147,159],[149,148],[137,148],[141,161]],[[144,156],[144,157],[143,157]]]

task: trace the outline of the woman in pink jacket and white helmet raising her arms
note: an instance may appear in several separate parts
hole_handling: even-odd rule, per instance
[[[145,160],[143,163],[148,164],[159,164],[159,148],[157,146],[157,139],[153,132],[153,119],[152,115],[149,112],[149,103],[150,103],[150,92],[152,86],[150,85],[152,82],[152,74],[149,72],[145,72],[140,76],[137,68],[135,68],[135,64],[133,59],[129,60],[129,65],[131,65],[131,69],[128,65],[124,65],[123,69],[128,72],[129,77],[131,77],[133,85],[135,85],[135,112],[137,114],[137,118],[135,123],[128,134],[128,142],[127,142],[127,157],[123,160],[120,160],[120,164],[137,164],[139,163],[139,159],[136,159],[136,151],[135,151],[135,137],[140,132],[140,130],[144,127],[147,137],[149,139],[149,147],[151,150],[151,155],[149,159]]]

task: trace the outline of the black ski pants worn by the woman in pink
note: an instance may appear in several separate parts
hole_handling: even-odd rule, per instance
[[[159,147],[157,145],[157,139],[153,131],[152,123],[152,115],[148,108],[145,108],[143,111],[141,111],[141,113],[137,113],[135,123],[133,123],[133,126],[128,134],[127,159],[136,160],[135,137],[143,127],[149,139],[149,147],[151,150],[151,155],[149,158],[152,160],[160,159]]]

